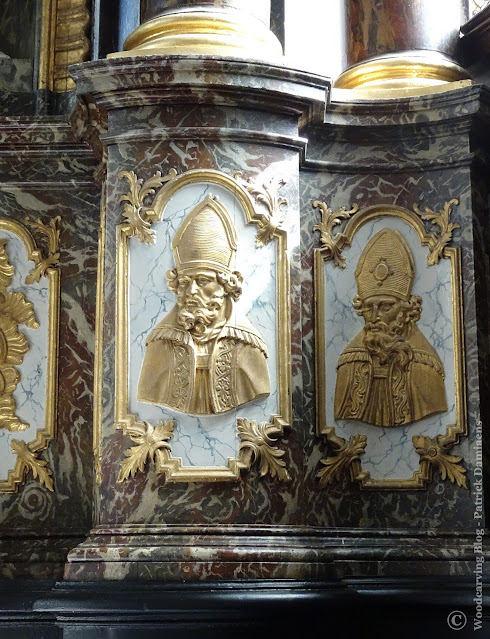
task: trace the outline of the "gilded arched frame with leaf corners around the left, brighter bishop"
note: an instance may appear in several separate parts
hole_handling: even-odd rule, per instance
[[[132,474],[141,471],[148,459],[154,459],[157,471],[172,482],[217,482],[236,481],[241,471],[250,468],[254,460],[260,460],[260,473],[267,472],[271,476],[288,480],[289,475],[285,463],[280,459],[284,451],[272,446],[282,436],[284,429],[289,428],[292,420],[291,405],[291,321],[290,321],[290,276],[289,258],[287,254],[287,232],[280,225],[271,229],[271,240],[276,243],[277,268],[277,368],[278,368],[278,414],[270,417],[269,422],[256,424],[247,419],[237,419],[238,436],[241,440],[236,458],[228,458],[227,466],[183,466],[180,458],[171,456],[168,440],[173,434],[173,422],[159,422],[152,425],[140,421],[138,416],[129,413],[129,240],[135,235],[143,242],[150,242],[153,233],[152,222],[161,221],[164,210],[180,189],[196,183],[210,183],[227,189],[241,204],[246,223],[255,224],[259,231],[264,227],[267,215],[258,213],[252,197],[240,182],[237,174],[231,177],[217,170],[190,170],[180,175],[173,169],[167,176],[160,173],[147,180],[137,180],[134,173],[122,172],[120,178],[131,184],[131,193],[123,196],[121,201],[131,201],[127,207],[125,221],[116,227],[116,336],[115,336],[115,422],[116,428],[129,435],[138,446],[126,451],[129,459],[122,462],[122,471],[118,482],[128,479]],[[242,181],[243,182],[243,181]],[[142,186],[143,184],[143,186]],[[147,196],[152,196],[160,189],[150,206],[136,206],[136,190],[140,189],[142,197],[139,204]],[[282,203],[282,201],[281,201]],[[129,213],[128,213],[129,211]],[[99,309],[100,310],[100,309]],[[98,355],[98,367],[102,359]],[[140,453],[144,451],[144,456]],[[140,455],[139,460],[137,456]],[[124,470],[125,469],[125,470]]]

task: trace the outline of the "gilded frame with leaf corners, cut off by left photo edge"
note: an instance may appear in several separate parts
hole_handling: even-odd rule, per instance
[[[41,220],[28,223],[48,238],[48,254],[43,256],[36,245],[31,232],[15,220],[0,218],[0,231],[10,231],[17,235],[24,243],[28,258],[34,263],[34,269],[29,277],[46,277],[48,280],[48,360],[46,378],[46,404],[44,427],[37,430],[33,442],[23,445],[17,451],[17,461],[8,473],[6,481],[0,481],[0,493],[11,493],[24,483],[29,470],[33,476],[39,478],[49,490],[53,490],[52,472],[45,461],[37,458],[37,454],[47,448],[49,442],[56,435],[57,404],[58,404],[58,345],[59,345],[59,312],[60,312],[60,272],[58,270],[59,253],[59,224],[60,218],[54,218],[49,226]],[[22,442],[23,444],[23,442]]]

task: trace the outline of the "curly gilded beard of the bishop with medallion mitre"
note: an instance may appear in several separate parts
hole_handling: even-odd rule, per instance
[[[379,359],[381,366],[395,363],[407,370],[412,361],[412,347],[404,336],[405,324],[394,321],[390,324],[377,320],[364,327],[364,346],[371,357]]]

